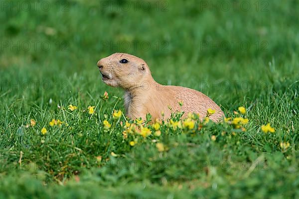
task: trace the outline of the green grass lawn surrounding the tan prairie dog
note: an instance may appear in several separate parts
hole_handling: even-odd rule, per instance
[[[297,1],[267,1],[268,11],[261,11],[264,1],[257,11],[254,0],[248,11],[210,10],[197,0],[168,1],[167,11],[157,11],[156,1],[149,10],[128,11],[95,0],[48,2],[46,11],[1,6],[0,198],[299,198]],[[135,49],[135,41],[150,48]],[[201,45],[217,41],[250,48]],[[17,42],[20,49],[12,47]],[[43,50],[42,42],[51,47]],[[244,105],[246,131],[227,123],[195,132],[165,124],[159,137],[124,139],[125,117],[112,119],[114,108],[123,111],[123,91],[104,85],[96,67],[113,52],[142,57],[157,82],[201,91],[227,117]],[[69,104],[78,108],[69,111]],[[34,127],[26,127],[30,119]],[[50,127],[52,119],[68,126]],[[267,123],[275,133],[261,130]]]

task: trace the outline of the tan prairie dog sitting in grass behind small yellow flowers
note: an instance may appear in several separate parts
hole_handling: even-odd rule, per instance
[[[129,62],[120,63],[122,59]],[[97,65],[102,75],[108,77],[103,78],[105,84],[125,90],[125,110],[127,116],[132,119],[145,119],[147,113],[150,113],[153,119],[162,119],[162,111],[164,119],[169,118],[174,111],[184,111],[184,115],[195,112],[203,118],[208,108],[216,110],[210,116],[213,121],[220,121],[224,116],[221,108],[213,100],[198,91],[156,83],[143,59],[125,53],[115,53],[98,61]],[[179,101],[183,101],[182,107],[179,106]]]

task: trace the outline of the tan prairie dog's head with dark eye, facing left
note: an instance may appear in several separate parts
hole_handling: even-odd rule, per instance
[[[140,85],[150,75],[147,63],[136,56],[114,53],[97,63],[105,84],[130,89]]]

